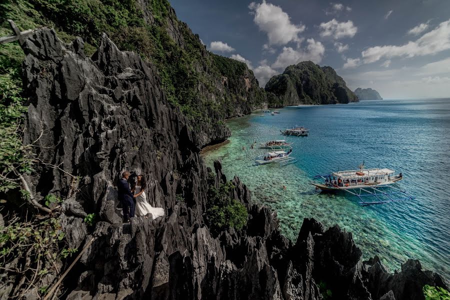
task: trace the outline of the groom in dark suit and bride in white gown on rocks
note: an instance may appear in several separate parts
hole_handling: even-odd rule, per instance
[[[129,188],[128,178],[129,172],[124,171],[117,184],[118,199],[122,203],[123,221],[129,221],[129,218],[134,217],[134,215],[146,216],[151,213],[153,219],[164,215],[164,209],[153,207],[147,202],[145,177],[137,175],[136,185],[132,189]]]

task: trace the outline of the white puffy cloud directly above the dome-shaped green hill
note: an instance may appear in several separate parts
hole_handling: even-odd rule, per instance
[[[285,68],[303,60],[312,60],[315,63],[319,63],[322,60],[323,53],[325,53],[325,47],[320,41],[315,41],[313,38],[308,38],[306,42],[307,46],[305,49],[300,47],[296,49],[283,47],[282,52],[272,64],[272,68]]]

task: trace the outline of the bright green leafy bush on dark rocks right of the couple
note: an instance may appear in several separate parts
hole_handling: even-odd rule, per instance
[[[242,203],[229,196],[229,192],[234,187],[231,181],[228,181],[216,188],[212,180],[209,180],[206,216],[209,228],[214,233],[229,227],[239,230],[247,223],[247,209]]]

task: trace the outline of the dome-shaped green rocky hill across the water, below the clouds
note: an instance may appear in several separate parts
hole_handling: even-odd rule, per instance
[[[330,66],[312,61],[289,65],[265,84],[281,100],[280,105],[334,104],[356,102],[357,97]]]

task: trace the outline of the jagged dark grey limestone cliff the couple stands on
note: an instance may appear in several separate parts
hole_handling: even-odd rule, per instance
[[[448,288],[418,263],[387,274],[376,258],[362,262],[351,233],[314,219],[304,220],[292,244],[276,213],[252,204],[237,177],[230,197],[246,206],[247,225],[212,236],[204,218],[212,170],[198,153],[209,137],[168,104],[151,63],[119,51],[106,35],[86,57],[81,39],[65,44],[47,28],[24,50],[25,142],[81,181],[48,165],[27,179],[36,195],[68,197],[60,221],[71,224],[64,227],[70,246],[94,238],[63,282],[66,298],[312,300],[329,291],[337,299],[399,300],[410,295],[405,287],[417,298],[425,283]],[[164,208],[163,218],[122,224],[114,185],[123,169],[149,178],[147,198]],[[226,180],[219,162],[213,176],[216,185]],[[100,216],[93,229],[79,225],[89,212]]]

